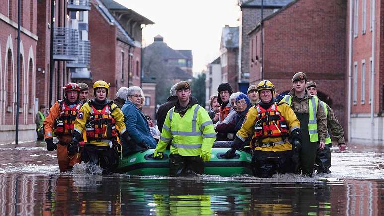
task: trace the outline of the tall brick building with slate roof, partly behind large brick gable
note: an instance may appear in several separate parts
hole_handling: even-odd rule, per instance
[[[239,86],[241,91],[247,91],[249,82],[249,58],[252,48],[249,47],[250,32],[256,23],[261,21],[261,4],[263,4],[263,17],[267,17],[276,12],[281,7],[287,5],[292,0],[239,0],[241,10],[239,26]],[[255,58],[255,57],[253,57]]]

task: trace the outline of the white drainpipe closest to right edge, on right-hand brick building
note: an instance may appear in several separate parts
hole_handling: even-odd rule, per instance
[[[372,0],[372,68],[371,68],[371,143],[374,143],[374,76],[375,76],[375,25],[376,25],[376,13],[375,13],[375,0]]]

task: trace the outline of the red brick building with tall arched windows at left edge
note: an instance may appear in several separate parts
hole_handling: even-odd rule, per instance
[[[23,0],[20,32],[20,82],[17,79],[18,1],[0,3],[0,143],[15,138],[16,85],[20,86],[19,140],[34,140],[37,0]]]

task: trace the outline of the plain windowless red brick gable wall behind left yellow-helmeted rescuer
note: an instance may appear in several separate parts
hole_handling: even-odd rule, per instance
[[[93,82],[104,80],[111,84],[108,98],[114,99],[116,95],[116,56],[120,49],[117,48],[116,26],[110,25],[92,4],[89,11],[89,40],[91,41],[91,66]],[[116,56],[116,57],[115,57]],[[128,58],[128,51],[127,51]],[[90,86],[91,88],[91,86]],[[90,89],[89,98],[93,97]]]

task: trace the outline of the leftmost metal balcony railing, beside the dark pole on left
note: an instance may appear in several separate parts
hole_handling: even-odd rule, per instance
[[[54,28],[53,44],[55,60],[77,60],[79,31],[72,28]]]

